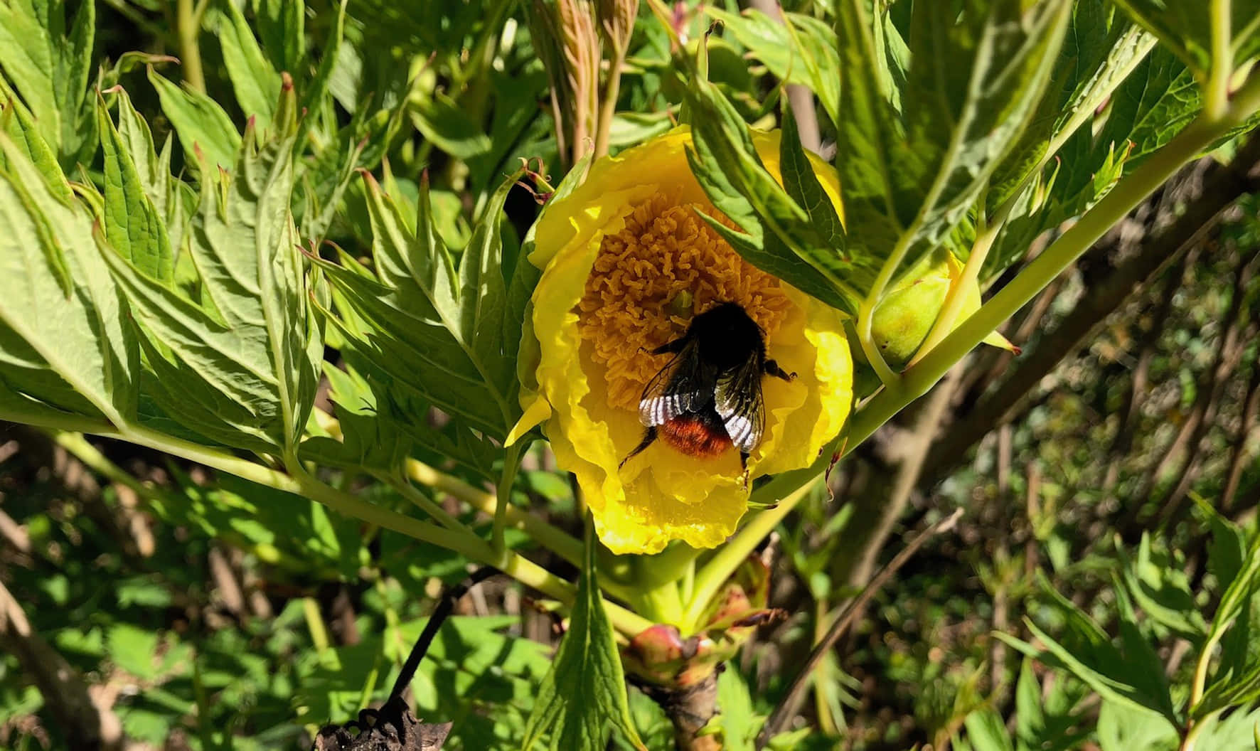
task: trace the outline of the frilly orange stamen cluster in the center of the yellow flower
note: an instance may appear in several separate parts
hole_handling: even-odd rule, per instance
[[[658,192],[600,243],[577,304],[578,330],[605,368],[612,407],[638,410],[644,386],[668,362],[648,353],[717,304],[743,306],[770,340],[788,315],[791,301],[780,281],[741,258],[698,210],[706,207]]]

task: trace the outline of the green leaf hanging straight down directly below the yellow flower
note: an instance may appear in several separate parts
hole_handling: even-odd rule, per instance
[[[630,719],[621,655],[595,572],[595,536],[587,524],[586,556],[577,582],[577,599],[568,633],[556,660],[538,688],[538,701],[525,723],[528,751],[551,733],[551,748],[601,751],[616,731],[636,748],[646,750]]]

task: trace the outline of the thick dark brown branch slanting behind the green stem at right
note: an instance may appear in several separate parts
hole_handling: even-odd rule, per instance
[[[1260,170],[1256,169],[1260,161],[1260,134],[1252,134],[1234,161],[1227,165],[1205,159],[1211,164],[1201,160],[1182,173],[1184,175],[1189,171],[1196,176],[1201,174],[1202,179],[1188,180],[1182,189],[1166,189],[1162,194],[1168,199],[1169,193],[1184,193],[1187,199],[1184,210],[1172,222],[1140,238],[1137,252],[1108,276],[1089,284],[1089,295],[1058,328],[1047,334],[1036,349],[1021,358],[1019,365],[1007,376],[997,391],[951,426],[950,440],[937,444],[929,456],[925,478],[930,480],[940,478],[958,465],[990,430],[1011,421],[1017,415],[1017,407],[1024,396],[1065,357],[1075,352],[1080,343],[1115,312],[1134,290],[1202,238],[1240,195],[1260,190]],[[1124,232],[1110,233],[1111,243],[1119,246],[1134,242],[1131,237],[1125,238],[1123,234]]]

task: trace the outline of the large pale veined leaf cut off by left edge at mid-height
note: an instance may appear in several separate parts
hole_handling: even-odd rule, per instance
[[[136,410],[136,344],[92,217],[52,190],[5,135],[0,151],[0,358],[8,363],[0,377],[28,398],[123,426]]]

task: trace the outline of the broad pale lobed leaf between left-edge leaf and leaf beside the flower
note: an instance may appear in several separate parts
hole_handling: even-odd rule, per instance
[[[214,441],[286,459],[323,362],[289,210],[292,145],[289,132],[257,150],[246,146],[231,174],[202,183],[188,246],[200,300],[110,258],[142,335],[152,376],[146,391],[158,406]]]

